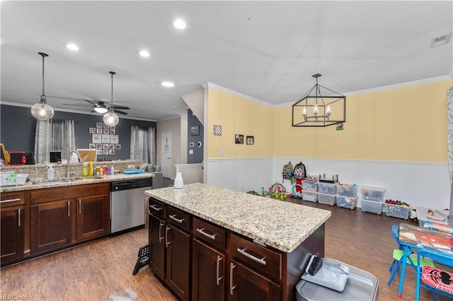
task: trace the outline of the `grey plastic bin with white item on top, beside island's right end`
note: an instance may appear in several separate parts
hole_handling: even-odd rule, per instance
[[[312,255],[296,285],[297,301],[377,300],[379,279],[335,259]]]

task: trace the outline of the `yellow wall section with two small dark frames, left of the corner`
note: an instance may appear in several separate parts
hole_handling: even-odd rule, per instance
[[[273,156],[273,107],[208,88],[207,111],[207,158]],[[222,136],[214,136],[214,124],[222,125]],[[234,143],[235,134],[243,135],[243,144]],[[247,145],[246,136],[253,136],[255,144]]]

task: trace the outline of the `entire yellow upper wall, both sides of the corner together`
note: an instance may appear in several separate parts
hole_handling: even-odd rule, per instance
[[[452,79],[350,95],[343,131],[336,131],[336,126],[292,127],[291,105],[269,107],[209,88],[207,158],[447,163],[446,90],[450,85]],[[214,136],[214,124],[222,125],[222,136]],[[234,144],[234,134],[255,136],[255,145]]]

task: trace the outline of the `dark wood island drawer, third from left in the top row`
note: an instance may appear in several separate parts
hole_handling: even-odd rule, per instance
[[[207,242],[212,247],[224,251],[225,249],[225,230],[218,226],[212,225],[200,220],[193,218],[192,232],[193,236],[198,239]]]

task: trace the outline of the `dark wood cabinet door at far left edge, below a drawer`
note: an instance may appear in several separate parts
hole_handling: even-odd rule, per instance
[[[6,208],[0,212],[1,265],[23,257],[23,207]]]

